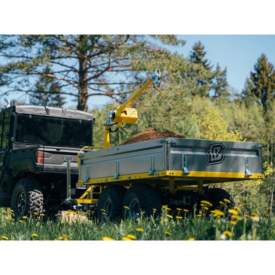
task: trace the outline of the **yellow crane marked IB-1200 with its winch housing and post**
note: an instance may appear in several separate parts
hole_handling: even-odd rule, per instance
[[[126,123],[136,123],[138,120],[138,112],[135,108],[128,108],[151,84],[155,87],[160,85],[160,70],[156,69],[149,75],[130,96],[118,106],[114,112],[107,112],[107,121],[105,125],[104,147],[111,147],[110,132],[112,126],[118,124],[118,130],[122,130]]]

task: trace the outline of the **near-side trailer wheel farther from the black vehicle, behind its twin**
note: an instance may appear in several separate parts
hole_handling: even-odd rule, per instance
[[[125,218],[136,219],[141,211],[145,211],[147,217],[154,214],[154,218],[157,218],[161,212],[160,194],[151,185],[135,184],[126,192],[123,206],[129,207],[123,208]]]

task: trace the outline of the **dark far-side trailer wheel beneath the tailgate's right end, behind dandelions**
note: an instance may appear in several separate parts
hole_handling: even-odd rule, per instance
[[[223,211],[224,206],[220,204],[220,201],[225,203],[224,199],[230,200],[230,203],[226,203],[228,206],[227,209],[233,208],[235,206],[234,200],[232,196],[224,189],[221,188],[210,188],[208,189],[208,198],[207,198],[211,204],[212,207],[210,207],[210,210],[214,209],[220,209]],[[226,217],[229,217],[229,213],[226,210]]]

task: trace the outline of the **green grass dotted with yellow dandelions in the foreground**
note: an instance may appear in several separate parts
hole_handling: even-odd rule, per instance
[[[136,221],[100,223],[97,218],[88,219],[89,212],[68,211],[56,222],[45,221],[45,216],[35,213],[16,222],[12,210],[5,213],[2,208],[0,237],[2,240],[275,240],[271,209],[262,214],[244,214],[235,207],[229,210],[230,218],[225,218],[225,213],[218,209],[210,213],[207,203],[195,215],[183,209],[173,213],[167,207],[162,210],[161,217],[147,219],[141,213]]]

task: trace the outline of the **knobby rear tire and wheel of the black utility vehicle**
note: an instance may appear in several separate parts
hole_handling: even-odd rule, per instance
[[[13,189],[10,207],[15,220],[30,216],[33,212],[41,214],[43,193],[40,184],[34,179],[21,178]]]

